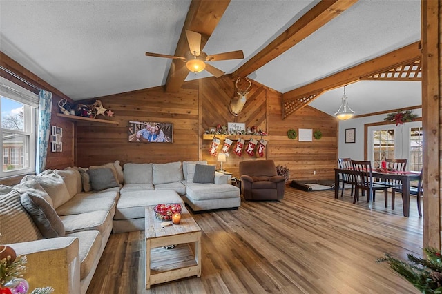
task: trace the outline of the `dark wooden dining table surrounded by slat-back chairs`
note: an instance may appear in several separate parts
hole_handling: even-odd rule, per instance
[[[353,168],[335,168],[334,169],[334,197],[339,197],[339,177],[340,175],[355,175]],[[398,171],[380,168],[372,169],[372,178],[399,180],[402,183],[402,201],[403,216],[410,216],[410,182],[419,180],[419,172],[414,171]],[[369,208],[372,209],[372,197],[369,197]]]

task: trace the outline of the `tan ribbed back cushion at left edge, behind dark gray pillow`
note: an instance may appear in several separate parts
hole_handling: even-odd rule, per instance
[[[11,191],[0,195],[0,244],[42,239],[39,229],[21,205],[20,194]]]

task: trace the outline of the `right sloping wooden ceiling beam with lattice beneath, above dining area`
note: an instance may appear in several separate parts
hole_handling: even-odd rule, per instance
[[[421,49],[418,41],[398,50],[387,53],[381,57],[377,57],[375,59],[361,63],[358,66],[354,66],[353,68],[337,72],[334,75],[330,75],[329,77],[314,81],[311,84],[302,86],[289,92],[285,92],[284,94],[282,94],[282,119],[285,119],[285,117],[290,115],[292,112],[300,108],[304,108],[308,104],[298,104],[299,107],[296,108],[294,111],[285,113],[285,108],[291,109],[289,107],[285,107],[293,104],[293,102],[291,101],[298,101],[300,99],[303,99],[304,97],[311,95],[311,93],[321,93],[327,90],[338,88],[340,86],[352,84],[356,81],[359,81],[362,77],[374,75],[378,72],[385,72],[387,70],[390,70],[391,68],[401,66],[404,63],[412,63],[420,58]],[[308,102],[313,101],[315,98],[316,97],[309,99]]]

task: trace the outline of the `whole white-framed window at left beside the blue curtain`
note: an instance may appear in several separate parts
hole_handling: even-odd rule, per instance
[[[35,171],[35,117],[38,97],[0,79],[0,119],[3,167],[0,177]]]

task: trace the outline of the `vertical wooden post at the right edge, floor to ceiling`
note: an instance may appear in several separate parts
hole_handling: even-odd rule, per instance
[[[439,136],[442,115],[442,33],[440,1],[421,1],[423,116],[423,247],[441,249],[441,186]]]

